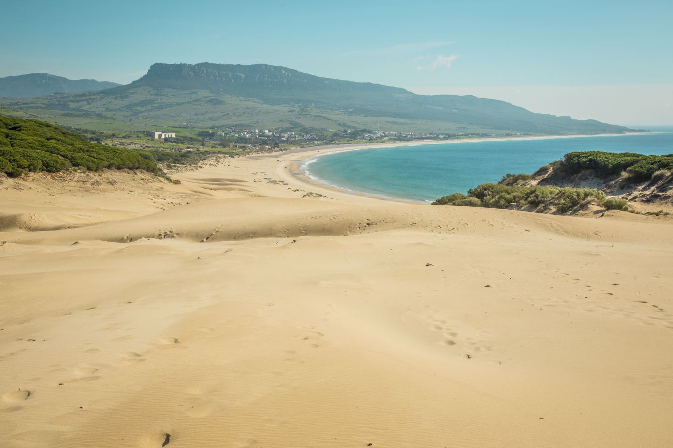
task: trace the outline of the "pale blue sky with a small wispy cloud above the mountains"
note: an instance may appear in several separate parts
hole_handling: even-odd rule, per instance
[[[268,63],[535,112],[673,124],[673,0],[4,2],[0,76]]]

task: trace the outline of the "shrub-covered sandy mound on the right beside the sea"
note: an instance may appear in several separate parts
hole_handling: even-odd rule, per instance
[[[624,211],[636,204],[645,215],[670,215],[647,205],[673,205],[673,154],[576,151],[532,175],[507,174],[497,184],[470,189],[467,196],[454,193],[433,202],[540,213],[577,213],[590,204]]]

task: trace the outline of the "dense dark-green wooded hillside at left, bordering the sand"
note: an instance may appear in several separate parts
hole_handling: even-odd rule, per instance
[[[69,167],[157,170],[149,154],[91,143],[54,124],[0,116],[0,172],[20,176]]]

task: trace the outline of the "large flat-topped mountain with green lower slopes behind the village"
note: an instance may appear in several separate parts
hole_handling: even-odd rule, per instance
[[[399,87],[323,78],[273,65],[153,64],[128,85],[0,107],[96,128],[188,123],[196,127],[369,128],[431,133],[597,134],[627,128],[536,114],[499,100],[413,94]],[[98,123],[98,124],[97,124]],[[102,124],[100,124],[102,126]],[[124,127],[126,126],[126,127]]]

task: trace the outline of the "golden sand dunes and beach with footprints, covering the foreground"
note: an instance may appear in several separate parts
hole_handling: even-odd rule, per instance
[[[670,445],[670,221],[299,176],[334,150],[1,178],[0,446]]]

